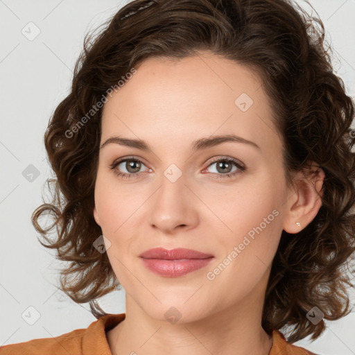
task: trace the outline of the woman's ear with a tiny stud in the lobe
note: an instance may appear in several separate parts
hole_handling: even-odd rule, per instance
[[[286,202],[287,208],[284,220],[286,232],[291,234],[300,232],[318,214],[322,206],[320,196],[323,196],[324,178],[324,171],[315,162],[311,162],[308,167],[295,175],[295,178],[293,178],[294,187],[288,190]],[[300,222],[300,225],[296,225],[296,222]]]

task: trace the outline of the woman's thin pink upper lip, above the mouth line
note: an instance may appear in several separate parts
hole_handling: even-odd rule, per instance
[[[197,250],[178,248],[167,250],[164,248],[153,248],[142,252],[139,257],[144,259],[164,259],[164,260],[178,260],[178,259],[207,259],[213,257],[212,254],[205,254]]]

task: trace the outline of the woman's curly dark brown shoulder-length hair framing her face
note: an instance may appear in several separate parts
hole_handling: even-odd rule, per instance
[[[209,51],[259,73],[284,144],[288,185],[309,161],[325,173],[317,216],[292,238],[282,232],[262,316],[268,334],[293,327],[290,343],[318,338],[324,320],[312,324],[306,313],[315,305],[326,320],[350,312],[347,286],[353,285],[345,268],[355,251],[354,103],[334,73],[322,21],[291,0],[136,0],[102,26],[85,36],[71,92],[44,135],[57,179],[47,180],[53,200],[33,212],[32,222],[46,241],[40,243],[69,262],[61,271],[62,290],[75,302],[89,302],[99,318],[106,313],[96,299],[121,287],[107,254],[93,246],[102,234],[93,216],[98,102],[147,58],[179,60]],[[38,223],[43,214],[53,217],[46,228]]]

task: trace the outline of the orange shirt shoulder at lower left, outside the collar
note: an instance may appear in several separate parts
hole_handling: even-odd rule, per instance
[[[80,354],[86,329],[76,329],[54,338],[40,338],[0,347],[0,355]]]

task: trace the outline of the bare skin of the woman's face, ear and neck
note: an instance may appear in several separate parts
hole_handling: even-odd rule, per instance
[[[234,103],[242,93],[254,101],[245,112]],[[271,117],[252,71],[202,52],[177,62],[146,60],[105,103],[101,144],[120,136],[143,139],[152,150],[112,143],[99,155],[94,218],[111,243],[107,255],[126,293],[126,318],[107,332],[112,354],[268,354],[272,339],[261,314],[272,259],[282,230],[300,232],[317,214],[324,179],[320,168],[308,180],[300,172],[295,187],[286,188],[282,141]],[[191,151],[197,139],[231,134],[259,148],[224,142]],[[141,175],[115,175],[110,164],[132,155],[140,170],[129,162],[115,170]],[[218,170],[218,159],[226,157],[245,171],[234,164]],[[164,175],[171,164],[182,173],[175,182]],[[278,215],[262,232],[208,279],[273,210]],[[162,277],[139,258],[155,247],[189,248],[214,259],[187,275]],[[180,315],[174,324],[165,316],[171,307]]]

